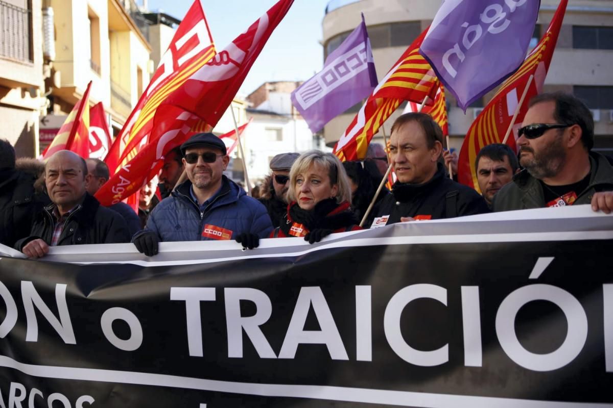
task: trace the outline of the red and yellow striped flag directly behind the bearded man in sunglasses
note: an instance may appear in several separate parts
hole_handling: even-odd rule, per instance
[[[543,84],[552,56],[554,55],[555,44],[558,40],[567,4],[568,0],[560,2],[549,24],[549,28],[547,28],[543,35],[543,39],[528,54],[517,72],[504,81],[497,94],[485,106],[468,130],[462,144],[462,149],[460,149],[458,161],[458,180],[460,183],[479,191],[477,174],[474,169],[474,161],[479,154],[479,150],[488,144],[503,142],[504,135],[517,109],[520,96],[524,92],[530,75],[534,75],[534,81],[532,81],[528,88],[523,105],[519,107],[519,114],[512,128],[512,136],[514,137],[509,137],[506,142],[512,149],[517,150],[515,143],[518,137],[517,130],[521,127],[522,121],[524,121],[530,98],[543,91]]]

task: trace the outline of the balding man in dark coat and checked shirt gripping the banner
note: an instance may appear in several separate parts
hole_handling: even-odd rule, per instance
[[[58,245],[129,242],[121,215],[87,193],[89,177],[85,160],[77,154],[60,150],[52,155],[45,165],[52,204],[35,215],[29,237],[18,240],[15,249],[40,258]]]

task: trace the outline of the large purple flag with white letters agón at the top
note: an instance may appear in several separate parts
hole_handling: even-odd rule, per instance
[[[540,0],[443,2],[419,52],[464,111],[524,62],[540,6]]]

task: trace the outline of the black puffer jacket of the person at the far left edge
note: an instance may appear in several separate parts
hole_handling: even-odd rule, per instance
[[[3,245],[12,247],[18,239],[30,234],[37,210],[34,181],[33,176],[22,171],[0,171],[0,243]]]

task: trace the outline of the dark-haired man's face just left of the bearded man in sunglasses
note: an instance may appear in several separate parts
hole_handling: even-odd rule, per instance
[[[446,162],[447,163],[447,162]],[[479,150],[474,169],[481,195],[492,205],[492,199],[498,191],[513,180],[519,171],[517,155],[508,144],[492,143]]]

